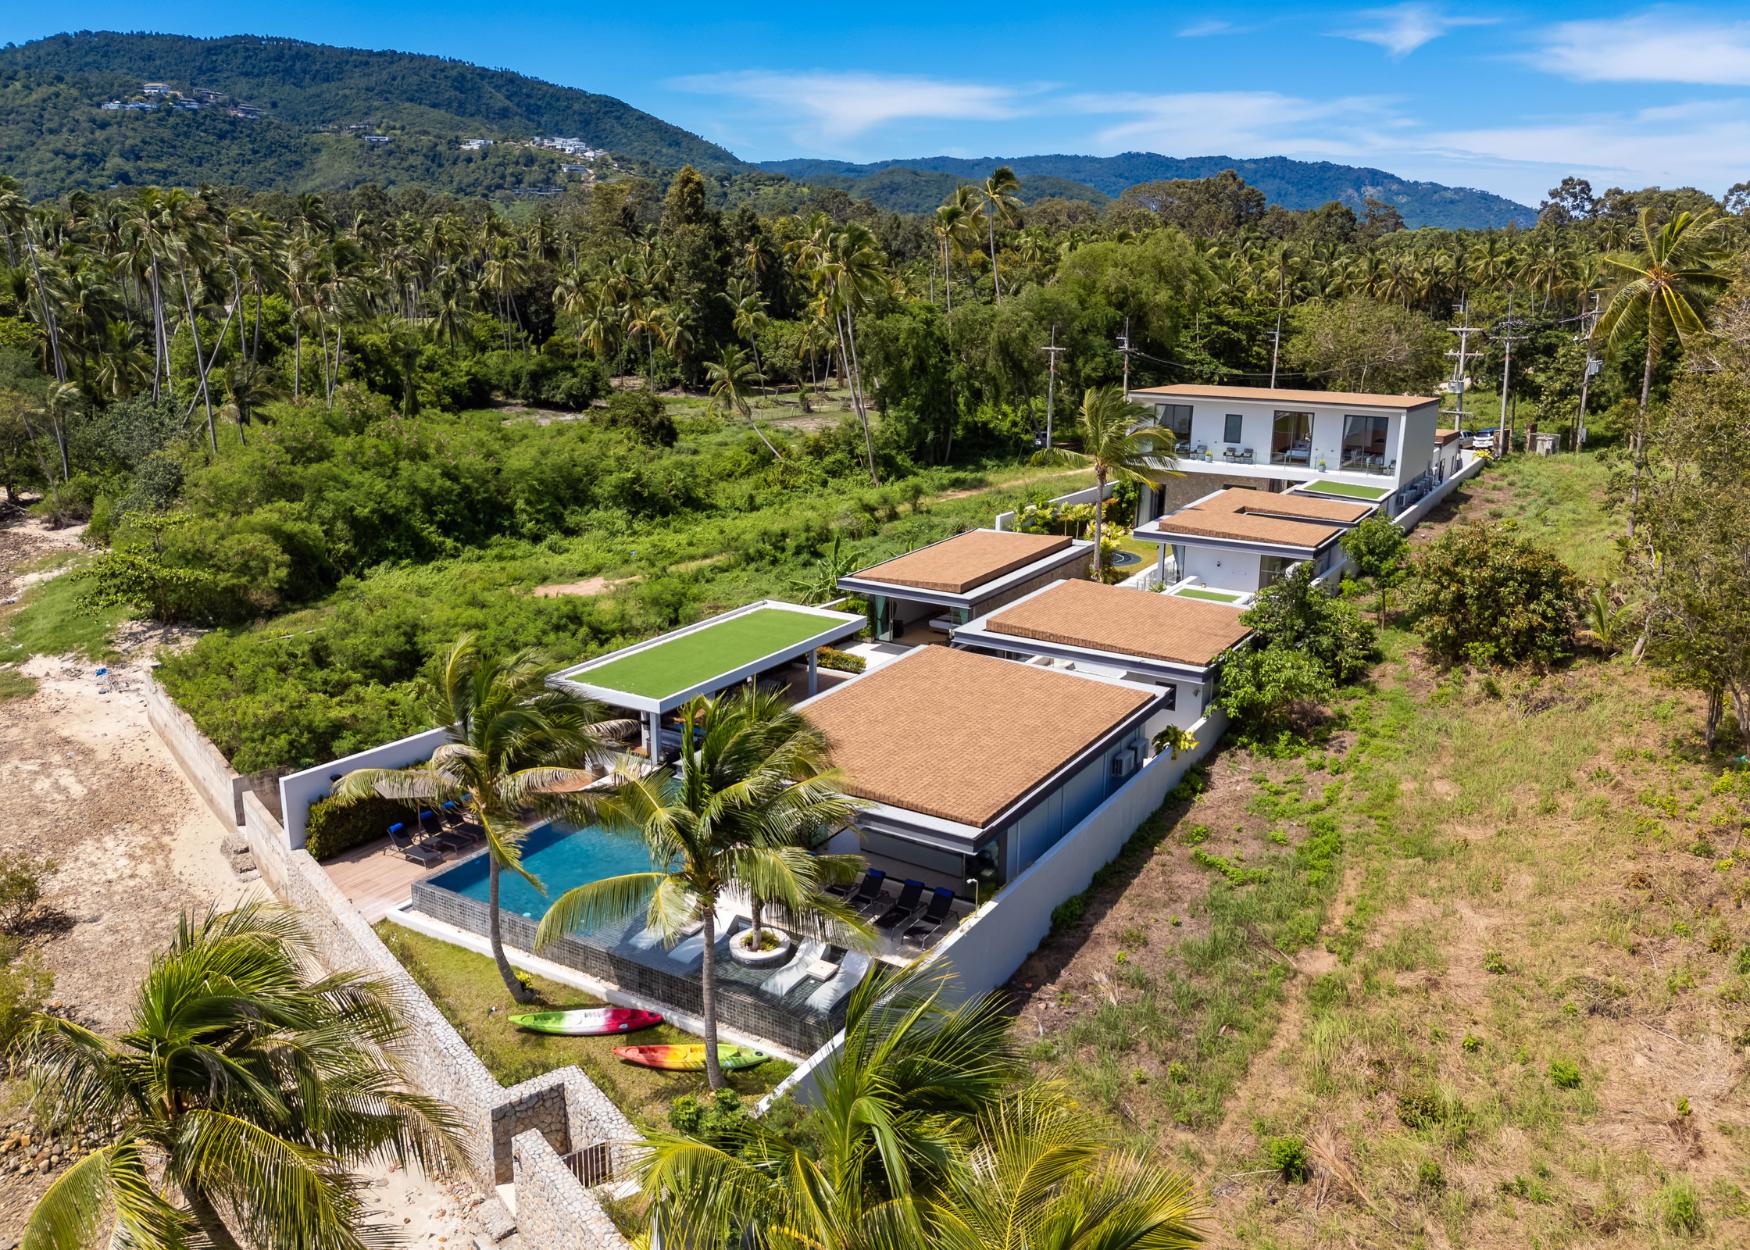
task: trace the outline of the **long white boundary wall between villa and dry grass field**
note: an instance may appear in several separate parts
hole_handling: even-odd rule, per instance
[[[1008,980],[1052,931],[1052,909],[1094,882],[1094,874],[1116,858],[1138,826],[1167,800],[1167,791],[1214,749],[1225,732],[1227,716],[1220,709],[1206,713],[1190,728],[1197,739],[1195,748],[1180,751],[1178,760],[1157,755],[1144,763],[1080,825],[1003,886],[996,898],[938,942],[929,954],[929,965],[954,966],[954,996],[964,1000],[985,994]],[[786,1092],[803,1101],[812,1099],[817,1092],[816,1070],[836,1054],[844,1042],[845,1035],[840,1029],[760,1101],[760,1112]]]

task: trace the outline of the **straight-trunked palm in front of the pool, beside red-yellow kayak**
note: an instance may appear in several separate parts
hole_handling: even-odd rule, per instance
[[[677,763],[625,779],[602,805],[604,821],[635,830],[651,863],[663,867],[567,889],[541,917],[536,947],[640,909],[665,942],[704,924],[705,1073],[712,1089],[723,1089],[718,903],[742,888],[791,926],[831,931],[840,944],[866,940],[856,912],[821,893],[822,884],[856,875],[861,860],[808,849],[863,802],[840,790],[819,732],[768,692],[695,699],[681,707],[681,742]]]

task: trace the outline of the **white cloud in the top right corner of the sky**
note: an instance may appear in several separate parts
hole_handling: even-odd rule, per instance
[[[1522,58],[1580,82],[1750,86],[1750,21],[1698,21],[1654,9],[1634,18],[1564,21]]]

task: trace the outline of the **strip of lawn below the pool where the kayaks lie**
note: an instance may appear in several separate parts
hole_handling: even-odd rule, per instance
[[[541,1001],[522,1007],[504,993],[497,966],[483,954],[413,933],[390,921],[380,921],[376,935],[474,1049],[486,1071],[504,1085],[574,1063],[640,1127],[667,1127],[672,1099],[705,1091],[704,1071],[656,1071],[614,1057],[616,1045],[696,1043],[698,1038],[691,1033],[668,1024],[600,1038],[525,1033],[511,1024],[513,1012],[564,1012],[604,1003],[581,989],[536,977]],[[793,1064],[770,1059],[758,1068],[726,1075],[730,1085],[751,1101],[768,1094],[791,1071]]]

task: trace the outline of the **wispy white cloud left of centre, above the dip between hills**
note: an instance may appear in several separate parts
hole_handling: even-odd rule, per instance
[[[784,109],[789,117],[807,119],[812,138],[826,142],[905,119],[1006,121],[1022,116],[1026,95],[978,82],[831,70],[700,74],[670,86]]]

